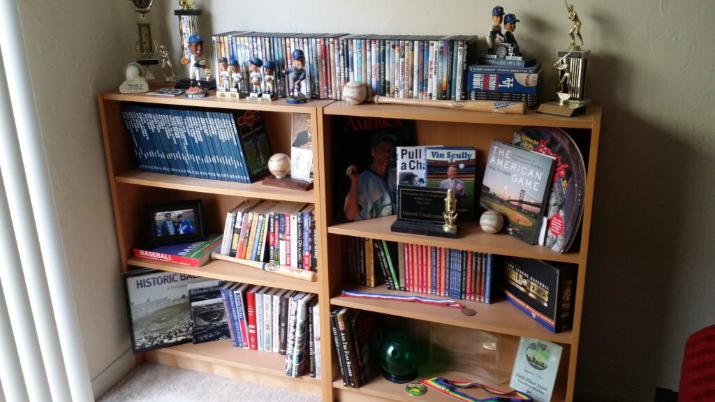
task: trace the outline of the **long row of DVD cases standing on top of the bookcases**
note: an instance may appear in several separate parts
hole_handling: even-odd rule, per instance
[[[465,99],[464,72],[476,59],[476,36],[230,31],[215,34],[212,40],[216,71],[220,57],[235,59],[243,82],[249,82],[248,61],[252,57],[276,62],[280,97],[287,93],[284,70],[292,65],[296,49],[305,54],[302,90],[312,99],[340,100],[342,86],[350,81],[363,82],[368,97]]]

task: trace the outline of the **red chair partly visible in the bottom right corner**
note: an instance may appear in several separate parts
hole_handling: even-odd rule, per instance
[[[678,402],[715,401],[715,325],[690,335],[680,373]]]

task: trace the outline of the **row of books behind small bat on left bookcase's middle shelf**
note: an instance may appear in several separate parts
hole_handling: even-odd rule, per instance
[[[226,214],[219,253],[317,272],[315,205],[242,200]]]

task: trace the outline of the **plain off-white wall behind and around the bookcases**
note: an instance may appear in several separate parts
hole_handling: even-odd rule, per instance
[[[89,369],[99,378],[127,351],[129,334],[95,94],[122,82],[137,18],[126,1],[19,3]],[[157,1],[148,20],[179,70],[177,3]],[[516,38],[527,56],[550,64],[568,45],[561,0],[195,7],[204,10],[204,38],[230,30],[483,37],[496,4],[521,19]],[[577,392],[647,401],[656,386],[678,388],[686,336],[715,317],[715,8],[709,0],[578,0],[576,11],[593,52],[586,94],[605,109]],[[545,76],[548,98],[556,73]]]

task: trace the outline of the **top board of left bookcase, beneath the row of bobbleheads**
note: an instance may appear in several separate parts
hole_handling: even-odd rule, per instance
[[[314,107],[325,107],[333,100],[310,99],[304,104],[288,104],[285,99],[277,99],[273,102],[251,101],[244,99],[223,99],[216,97],[215,92],[211,92],[205,98],[187,97],[155,97],[147,94],[122,94],[119,91],[104,92],[102,97],[105,100],[122,102],[142,102],[162,105],[187,106],[187,107],[216,107],[221,109],[251,109],[261,112],[287,112],[287,113],[310,113]]]

